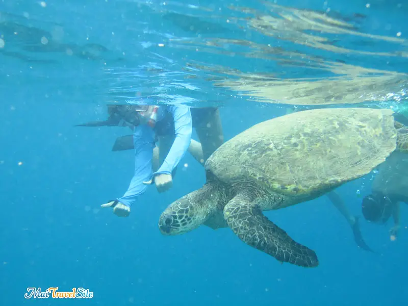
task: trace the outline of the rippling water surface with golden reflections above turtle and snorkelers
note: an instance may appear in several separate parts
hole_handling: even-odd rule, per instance
[[[58,80],[66,85],[60,96],[75,89],[95,97],[84,103],[100,104],[140,97],[190,105],[234,104],[237,97],[289,105],[406,100],[406,25],[379,23],[384,3],[359,2],[346,12],[330,2],[295,4],[84,2],[71,15],[86,20],[79,27],[62,4],[41,2],[17,14],[20,3],[0,12],[0,52],[25,64],[19,72],[6,65],[2,84],[24,72],[47,96]]]

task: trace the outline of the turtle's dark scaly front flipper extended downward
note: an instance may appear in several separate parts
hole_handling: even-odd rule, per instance
[[[316,253],[289,237],[265,217],[257,205],[244,194],[236,195],[224,207],[224,218],[233,232],[246,244],[259,249],[280,262],[317,267]]]

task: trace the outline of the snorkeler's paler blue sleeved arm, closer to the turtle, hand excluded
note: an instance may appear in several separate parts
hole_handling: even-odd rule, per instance
[[[185,105],[170,106],[169,111],[174,118],[175,139],[163,164],[160,166],[159,170],[154,173],[154,175],[171,175],[173,169],[179,164],[183,156],[186,154],[191,141],[192,120],[190,108]]]

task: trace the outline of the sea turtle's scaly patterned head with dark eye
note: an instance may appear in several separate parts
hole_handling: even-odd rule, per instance
[[[216,212],[219,191],[206,184],[172,202],[159,218],[163,235],[180,235],[190,232],[206,222]]]

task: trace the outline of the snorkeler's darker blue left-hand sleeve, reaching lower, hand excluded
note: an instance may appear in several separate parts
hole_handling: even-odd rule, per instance
[[[125,194],[117,198],[119,202],[128,207],[132,206],[147,188],[142,183],[151,177],[151,163],[155,147],[155,133],[147,124],[135,127],[133,138],[135,145],[135,174]]]

